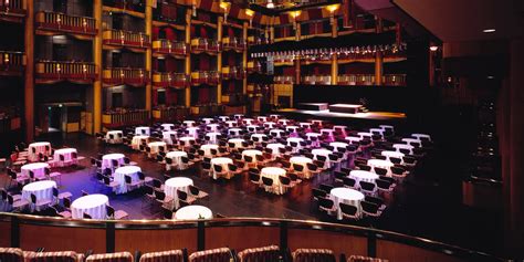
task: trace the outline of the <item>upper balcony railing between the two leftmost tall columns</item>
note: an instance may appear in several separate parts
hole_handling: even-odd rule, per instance
[[[96,34],[96,21],[93,18],[43,11],[36,13],[36,29]]]

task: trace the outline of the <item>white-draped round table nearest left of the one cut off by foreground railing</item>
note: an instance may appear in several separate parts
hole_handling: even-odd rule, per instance
[[[74,219],[83,219],[87,213],[93,219],[106,219],[106,206],[109,205],[109,198],[105,195],[94,193],[81,197],[71,203],[71,214]]]

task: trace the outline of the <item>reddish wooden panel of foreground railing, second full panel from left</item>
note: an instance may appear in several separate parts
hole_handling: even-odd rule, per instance
[[[115,250],[154,252],[175,249],[197,250],[197,229],[116,230]]]

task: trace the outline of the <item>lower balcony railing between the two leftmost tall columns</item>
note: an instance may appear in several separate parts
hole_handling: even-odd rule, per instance
[[[96,65],[87,62],[39,61],[35,63],[38,80],[71,80],[93,82],[96,78]]]

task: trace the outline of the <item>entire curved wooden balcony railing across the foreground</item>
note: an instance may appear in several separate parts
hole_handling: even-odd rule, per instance
[[[329,249],[336,256],[366,255],[396,261],[502,262],[486,253],[357,226],[271,218],[207,220],[71,220],[0,213],[0,247],[23,250],[188,252],[277,244],[282,251]],[[38,232],[38,238],[35,238]],[[56,240],[66,241],[56,241]]]

